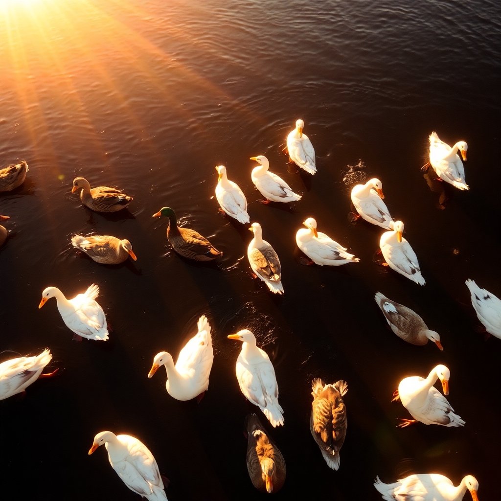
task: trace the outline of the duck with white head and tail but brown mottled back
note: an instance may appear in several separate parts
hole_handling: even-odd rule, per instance
[[[254,233],[247,247],[247,258],[250,268],[260,278],[270,291],[275,294],[284,294],[281,282],[282,267],[275,249],[262,237],[262,228],[259,222],[253,222],[249,228]]]

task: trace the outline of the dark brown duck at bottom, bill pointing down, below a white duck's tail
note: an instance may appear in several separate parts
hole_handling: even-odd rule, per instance
[[[253,485],[261,492],[278,492],[284,485],[285,459],[273,440],[264,431],[256,414],[245,419],[247,430],[247,470]]]

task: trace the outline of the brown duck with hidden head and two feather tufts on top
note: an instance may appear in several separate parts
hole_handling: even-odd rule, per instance
[[[312,390],[310,431],[329,468],[337,470],[340,464],[339,451],[346,437],[348,424],[343,402],[348,384],[343,380],[325,384],[317,378],[313,380]]]

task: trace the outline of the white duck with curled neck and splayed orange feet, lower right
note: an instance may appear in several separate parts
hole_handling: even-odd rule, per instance
[[[448,395],[449,378],[449,369],[439,364],[433,367],[426,379],[420,376],[402,379],[393,393],[392,402],[400,399],[414,419],[400,419],[402,422],[398,426],[405,428],[416,421],[442,426],[464,426],[464,421],[454,414],[454,409],[447,399],[433,386],[436,380],[440,379],[443,393]]]

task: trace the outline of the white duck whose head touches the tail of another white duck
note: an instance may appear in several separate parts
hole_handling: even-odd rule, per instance
[[[417,256],[410,243],[402,237],[404,223],[395,221],[394,229],[385,231],[379,240],[381,253],[388,266],[416,284],[425,285]]]

